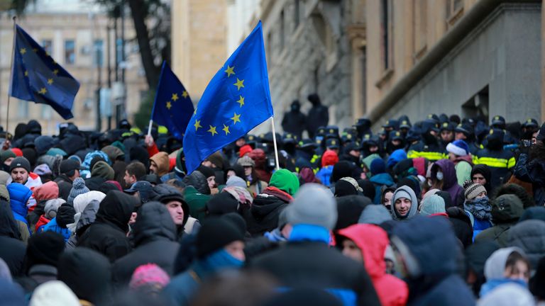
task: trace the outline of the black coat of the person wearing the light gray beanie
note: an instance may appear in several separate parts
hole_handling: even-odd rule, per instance
[[[380,305],[363,265],[322,242],[289,242],[258,256],[249,266],[275,276],[283,287],[343,290],[356,295],[357,305]]]

